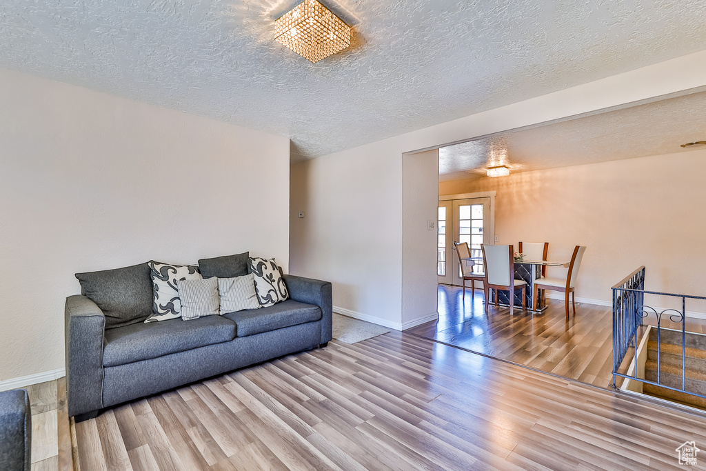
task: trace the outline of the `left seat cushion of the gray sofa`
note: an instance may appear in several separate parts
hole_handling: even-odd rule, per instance
[[[106,330],[103,366],[140,362],[233,338],[235,324],[221,316],[132,324]]]

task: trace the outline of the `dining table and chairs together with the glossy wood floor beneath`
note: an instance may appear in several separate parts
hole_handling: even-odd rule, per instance
[[[405,333],[606,387],[611,309],[575,299],[586,246],[450,245],[459,276],[438,284],[438,319]]]

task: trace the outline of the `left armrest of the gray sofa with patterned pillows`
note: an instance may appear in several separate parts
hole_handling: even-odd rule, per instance
[[[105,316],[85,296],[66,298],[66,395],[68,415],[103,407],[103,334]]]

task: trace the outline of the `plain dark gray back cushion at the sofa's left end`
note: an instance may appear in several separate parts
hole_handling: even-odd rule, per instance
[[[142,322],[152,314],[152,280],[148,263],[76,273],[76,278],[81,284],[81,294],[103,311],[107,329]]]

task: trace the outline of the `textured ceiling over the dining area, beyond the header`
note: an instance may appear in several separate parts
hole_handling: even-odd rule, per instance
[[[688,152],[706,141],[706,92],[520,129],[439,149],[439,179],[474,179],[486,167],[510,172]]]

